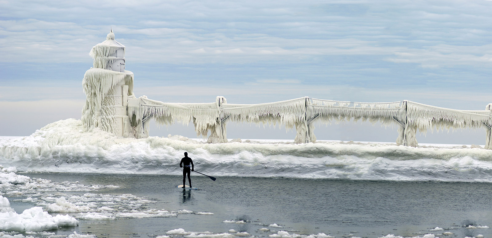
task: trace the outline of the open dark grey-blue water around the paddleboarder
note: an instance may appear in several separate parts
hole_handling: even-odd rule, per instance
[[[84,221],[75,228],[59,229],[57,234],[90,233],[97,237],[154,237],[183,228],[189,232],[225,233],[230,229],[268,237],[273,233],[258,229],[269,224],[296,234],[325,233],[336,238],[376,238],[395,234],[452,232],[464,238],[491,229],[465,229],[464,226],[492,227],[492,184],[465,182],[378,182],[327,179],[261,179],[222,177],[216,181],[194,174],[199,190],[175,186],[182,177],[135,175],[24,174],[53,181],[80,181],[83,184],[117,185],[93,193],[145,196],[157,201],[156,209],[213,212],[214,215],[179,214],[178,217]],[[85,193],[85,192],[83,192]],[[12,202],[22,212],[34,205]],[[247,224],[223,223],[248,220]],[[435,227],[444,231],[430,232]],[[267,227],[268,228],[268,227]],[[449,229],[449,230],[448,230]]]

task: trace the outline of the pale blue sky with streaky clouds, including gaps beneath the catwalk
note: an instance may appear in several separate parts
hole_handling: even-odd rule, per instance
[[[134,93],[163,102],[265,103],[303,96],[411,100],[485,110],[492,102],[491,0],[0,0],[0,135],[80,119],[89,52],[112,28]],[[263,125],[228,139],[294,139]],[[396,128],[317,125],[323,140],[394,142]],[[152,136],[196,137],[192,123]],[[485,130],[421,143],[485,144]]]

